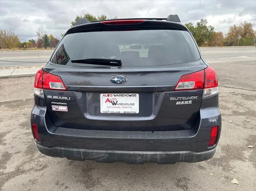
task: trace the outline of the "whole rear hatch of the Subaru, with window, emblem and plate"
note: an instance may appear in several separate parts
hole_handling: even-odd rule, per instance
[[[182,25],[86,24],[66,34],[43,68],[65,88],[44,89],[47,112],[64,128],[190,129],[202,102],[204,68]],[[188,74],[200,79],[189,84]]]

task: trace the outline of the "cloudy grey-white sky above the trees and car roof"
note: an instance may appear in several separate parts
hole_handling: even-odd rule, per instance
[[[205,18],[215,31],[224,34],[229,26],[244,20],[256,28],[256,0],[0,0],[0,28],[13,30],[22,42],[37,39],[39,29],[60,38],[76,15],[84,13],[109,18],[166,18],[178,14],[183,24],[196,24]]]

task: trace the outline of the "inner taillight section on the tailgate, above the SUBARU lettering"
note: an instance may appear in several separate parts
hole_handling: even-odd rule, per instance
[[[66,87],[59,76],[44,71],[43,89],[66,90]]]

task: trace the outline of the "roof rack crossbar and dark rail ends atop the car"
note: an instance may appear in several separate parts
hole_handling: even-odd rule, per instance
[[[180,18],[177,14],[175,15],[169,15],[167,18],[126,18],[126,19],[111,19],[111,20],[100,20],[100,21],[91,21],[91,22],[101,22],[101,21],[113,21],[113,20],[138,20],[138,19],[144,19],[144,20],[166,20],[170,22],[177,22],[180,23]],[[86,18],[78,19],[76,21],[75,26],[82,25],[90,23]]]

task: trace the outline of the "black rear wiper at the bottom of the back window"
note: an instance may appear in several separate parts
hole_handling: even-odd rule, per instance
[[[95,65],[105,65],[105,66],[122,66],[121,59],[118,58],[86,58],[79,60],[71,60],[72,63],[81,64],[95,64]]]

